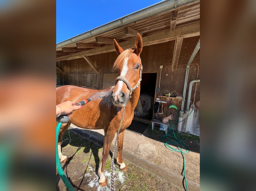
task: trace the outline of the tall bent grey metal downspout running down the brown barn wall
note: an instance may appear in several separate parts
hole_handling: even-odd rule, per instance
[[[186,67],[186,74],[185,74],[185,82],[184,82],[184,88],[183,88],[183,98],[181,102],[181,107],[180,107],[180,116],[182,117],[184,113],[184,103],[185,103],[185,96],[186,96],[186,88],[187,88],[187,79],[188,79],[188,72],[189,72],[189,67],[193,59],[195,58],[198,50],[200,49],[200,39],[197,43],[197,46],[195,47],[192,55],[190,56],[188,62],[187,62],[187,67]]]

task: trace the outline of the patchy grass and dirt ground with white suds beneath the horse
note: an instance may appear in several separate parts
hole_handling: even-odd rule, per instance
[[[105,166],[105,175],[109,180],[108,185],[106,187],[98,185],[97,171],[102,158],[103,139],[102,134],[90,130],[70,129],[65,133],[63,137],[65,141],[62,142],[61,147],[63,154],[70,158],[61,165],[65,175],[76,190],[110,190],[109,172],[112,152],[110,152],[111,157],[108,157]],[[126,160],[124,162],[128,166],[127,172],[122,172],[118,165],[115,165],[115,190],[176,190],[176,187],[172,186],[171,183],[159,179],[154,174],[130,164]],[[56,190],[67,190],[57,173]]]

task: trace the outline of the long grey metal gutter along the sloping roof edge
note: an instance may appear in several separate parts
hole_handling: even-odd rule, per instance
[[[131,13],[129,15],[126,15],[124,17],[121,17],[119,19],[116,19],[114,21],[111,21],[107,24],[104,24],[102,26],[99,26],[97,28],[94,28],[90,31],[84,32],[80,35],[77,35],[73,38],[67,39],[65,41],[62,41],[60,43],[56,44],[56,49],[68,46],[72,43],[79,42],[81,40],[99,35],[101,33],[116,29],[118,27],[126,26],[130,23],[139,21],[141,19],[151,17],[153,15],[163,13],[165,11],[171,10],[171,9],[176,9],[180,6],[193,3],[195,0],[166,0],[166,1],[161,1],[159,3],[156,3],[154,5],[151,5],[149,7],[146,7],[144,9],[141,9],[139,11],[136,11],[134,13]]]

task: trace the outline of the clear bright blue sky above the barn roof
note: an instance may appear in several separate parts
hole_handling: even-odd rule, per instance
[[[161,0],[56,0],[56,43]]]

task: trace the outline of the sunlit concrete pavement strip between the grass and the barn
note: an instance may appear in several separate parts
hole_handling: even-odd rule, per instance
[[[87,134],[85,138],[90,137],[90,140],[103,142],[103,130],[84,130],[74,125],[71,125],[70,128],[73,128],[73,131],[80,135]],[[123,158],[182,190],[184,189],[182,154],[165,148],[160,141],[160,136],[163,134],[165,132],[159,131],[159,126],[157,125],[152,131],[151,124],[147,126],[143,135],[126,130]],[[111,151],[114,148],[113,144]],[[190,148],[190,152],[185,154],[185,173],[188,189],[189,191],[197,191],[200,190],[200,143],[199,141],[187,139],[185,144]]]

